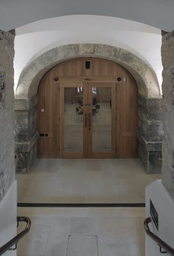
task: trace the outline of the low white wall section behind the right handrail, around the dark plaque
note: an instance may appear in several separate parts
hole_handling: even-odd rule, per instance
[[[150,215],[150,200],[152,200],[155,211],[157,211],[159,223],[157,230],[152,220],[152,223],[149,223],[150,231],[174,248],[174,199],[168,193],[167,189],[164,188],[161,180],[155,180],[146,187],[146,218],[151,217],[152,219]],[[162,255],[159,249],[159,245],[146,235],[145,255]],[[162,251],[164,250],[162,249]]]

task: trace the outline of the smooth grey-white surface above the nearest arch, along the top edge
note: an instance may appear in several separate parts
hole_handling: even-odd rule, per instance
[[[102,15],[174,29],[173,0],[1,0],[1,29],[64,15]]]

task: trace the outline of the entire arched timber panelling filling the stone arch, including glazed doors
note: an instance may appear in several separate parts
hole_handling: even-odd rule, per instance
[[[99,58],[60,63],[38,88],[38,157],[138,157],[137,85]]]

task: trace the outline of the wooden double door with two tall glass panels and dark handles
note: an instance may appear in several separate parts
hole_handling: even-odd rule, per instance
[[[116,156],[116,84],[59,84],[59,157]]]

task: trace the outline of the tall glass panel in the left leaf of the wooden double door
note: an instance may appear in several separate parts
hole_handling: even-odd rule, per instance
[[[83,157],[83,86],[64,86],[62,96],[61,155]]]

